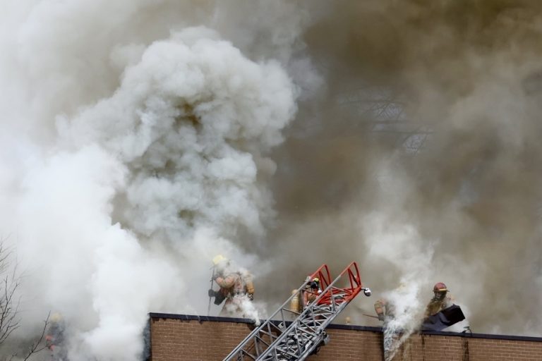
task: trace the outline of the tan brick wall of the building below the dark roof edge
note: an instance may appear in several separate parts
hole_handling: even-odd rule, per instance
[[[251,331],[245,319],[150,314],[152,361],[222,360]],[[382,361],[378,327],[331,325],[330,343],[310,361]],[[413,334],[394,361],[542,360],[542,338],[430,332]]]

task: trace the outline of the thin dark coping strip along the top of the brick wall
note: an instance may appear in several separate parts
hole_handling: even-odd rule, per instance
[[[198,316],[195,314],[169,314],[169,313],[149,313],[150,318],[155,319],[180,319],[183,321],[198,321],[198,322],[231,322],[242,324],[253,324],[251,319],[241,319],[234,317],[215,317],[215,316]],[[265,320],[262,320],[265,321]],[[272,321],[275,322],[275,321]],[[278,323],[278,321],[277,321]],[[353,324],[330,324],[327,329],[341,329],[352,331],[372,331],[382,332],[382,327],[375,326],[357,326]],[[447,331],[418,331],[417,334],[422,335],[438,335],[438,336],[455,336],[466,338],[490,338],[497,340],[514,340],[514,341],[533,341],[542,342],[542,337],[532,336],[512,336],[512,335],[495,335],[495,334],[474,334],[470,332],[447,332]]]

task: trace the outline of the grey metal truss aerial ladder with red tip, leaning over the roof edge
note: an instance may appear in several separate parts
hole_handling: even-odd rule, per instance
[[[303,312],[289,310],[291,299],[301,295],[307,283],[315,277],[320,279],[322,292]],[[347,287],[340,288],[341,285]],[[325,328],[361,290],[365,288],[356,262],[349,264],[334,280],[327,265],[323,264],[275,313],[246,336],[224,361],[305,360],[320,345],[327,343],[329,338]]]

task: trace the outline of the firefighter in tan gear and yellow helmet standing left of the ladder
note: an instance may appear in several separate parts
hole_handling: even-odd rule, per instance
[[[215,298],[215,305],[220,305],[224,300],[224,307],[219,316],[254,318],[254,307],[251,301],[254,299],[254,286],[252,275],[245,269],[234,267],[229,259],[217,255],[212,259],[215,265],[213,279],[219,286],[219,290],[209,290],[209,297]]]

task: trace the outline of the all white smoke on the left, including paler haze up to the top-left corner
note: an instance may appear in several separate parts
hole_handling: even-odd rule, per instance
[[[25,272],[23,334],[61,312],[73,360],[138,359],[147,312],[207,312],[213,255],[255,262],[231,240],[262,237],[266,154],[296,113],[279,62],[183,21],[145,39],[141,11],[168,6],[128,2],[28,2],[2,34],[0,231]]]

